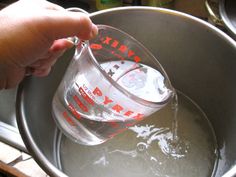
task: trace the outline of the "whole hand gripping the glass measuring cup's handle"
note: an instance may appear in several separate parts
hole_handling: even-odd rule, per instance
[[[15,87],[26,74],[46,76],[73,44],[88,40],[97,27],[80,12],[45,0],[20,0],[0,11],[0,89]]]

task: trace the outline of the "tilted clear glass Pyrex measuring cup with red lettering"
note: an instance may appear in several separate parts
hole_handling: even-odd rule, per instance
[[[98,25],[81,42],[52,103],[61,131],[96,145],[161,109],[173,88],[155,57],[128,34]]]

